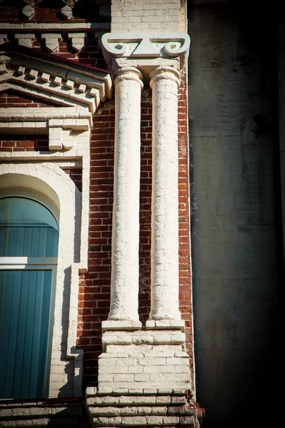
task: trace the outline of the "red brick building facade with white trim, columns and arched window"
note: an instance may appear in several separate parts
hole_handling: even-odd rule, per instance
[[[186,4],[2,2],[1,32],[0,424],[198,427]]]

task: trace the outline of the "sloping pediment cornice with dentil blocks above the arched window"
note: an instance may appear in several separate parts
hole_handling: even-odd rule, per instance
[[[96,111],[100,101],[111,98],[107,71],[31,49],[0,52],[0,63],[0,91],[11,88],[59,106],[87,108],[90,113]]]

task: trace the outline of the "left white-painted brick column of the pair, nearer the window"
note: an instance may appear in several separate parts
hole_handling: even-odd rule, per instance
[[[115,86],[114,208],[108,320],[139,320],[141,73],[120,68]]]

